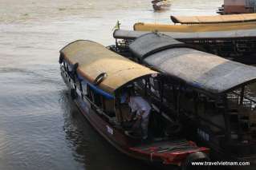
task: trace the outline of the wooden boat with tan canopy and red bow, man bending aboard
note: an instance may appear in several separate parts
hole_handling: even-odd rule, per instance
[[[150,117],[149,132],[156,131],[152,133],[152,140],[144,144],[140,137],[126,133],[124,121],[128,108],[120,104],[120,96],[132,87],[151,102],[149,86],[141,88],[139,84],[160,77],[156,71],[85,40],[71,42],[61,49],[59,63],[62,77],[81,113],[120,152],[165,167],[182,166],[184,169],[190,169],[192,161],[209,160],[205,154],[208,148],[197,147],[192,141],[179,137],[180,133],[175,135],[174,131],[169,136],[167,127],[173,121],[159,110],[154,109]],[[155,117],[158,117],[157,124]],[[162,128],[157,128],[159,125]]]

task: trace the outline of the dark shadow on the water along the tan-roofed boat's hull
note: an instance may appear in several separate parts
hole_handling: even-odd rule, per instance
[[[85,169],[156,169],[124,155],[104,140],[79,112],[67,91],[63,92],[62,108],[66,139],[74,151],[74,159],[83,164]]]

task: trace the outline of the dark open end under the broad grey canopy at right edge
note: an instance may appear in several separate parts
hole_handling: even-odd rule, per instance
[[[256,135],[256,90],[254,85],[243,86],[227,93],[227,113],[230,117],[232,140],[251,140]]]

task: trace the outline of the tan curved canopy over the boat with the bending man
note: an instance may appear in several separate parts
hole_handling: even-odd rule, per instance
[[[111,94],[136,78],[156,74],[155,71],[130,61],[96,42],[71,42],[61,49],[60,53],[69,64],[78,63],[77,73],[91,84],[101,73],[107,73],[99,87]]]

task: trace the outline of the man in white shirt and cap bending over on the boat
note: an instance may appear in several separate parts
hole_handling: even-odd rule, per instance
[[[140,96],[131,96],[128,93],[124,93],[121,96],[121,103],[128,103],[129,107],[132,110],[132,113],[136,113],[136,123],[142,129],[142,139],[146,140],[148,138],[148,121],[151,106],[148,104],[148,101],[144,100]],[[128,120],[132,120],[132,113],[129,114]]]

